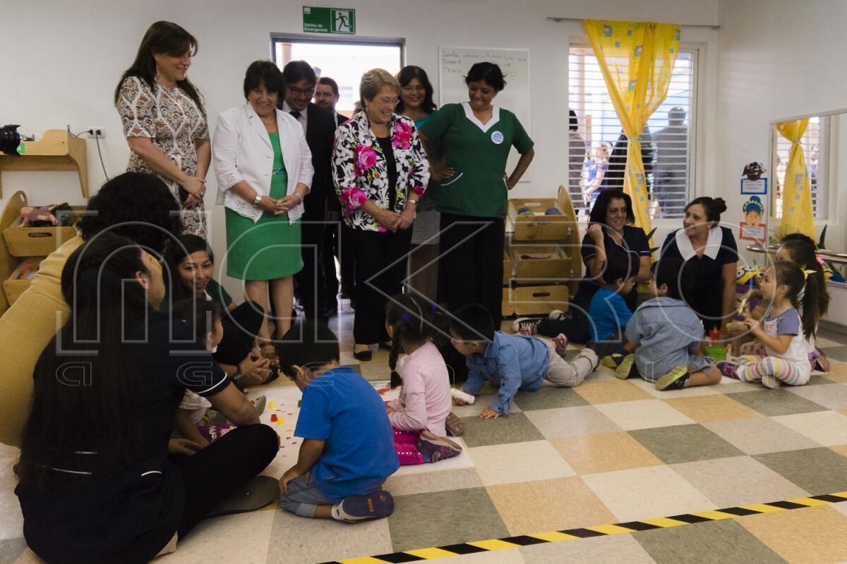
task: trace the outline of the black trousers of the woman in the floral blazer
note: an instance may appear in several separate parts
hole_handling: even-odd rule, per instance
[[[401,293],[412,229],[378,233],[351,229],[356,256],[356,317],[353,339],[359,344],[385,341],[387,296]],[[501,262],[502,264],[502,262]],[[390,268],[389,268],[390,266]]]

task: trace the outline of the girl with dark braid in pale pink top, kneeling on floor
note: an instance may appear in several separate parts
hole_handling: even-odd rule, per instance
[[[407,293],[391,298],[385,312],[392,342],[388,360],[392,382],[398,377],[397,357],[406,353],[400,367],[400,398],[385,404],[401,465],[436,463],[462,452],[446,438],[451,390],[444,359],[429,340],[435,330],[434,313],[434,305]]]

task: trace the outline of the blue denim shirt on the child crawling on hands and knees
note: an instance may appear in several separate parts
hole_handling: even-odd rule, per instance
[[[532,392],[541,387],[547,375],[549,351],[541,339],[495,331],[494,340],[484,353],[468,355],[468,381],[462,389],[476,396],[486,381],[500,386],[491,408],[505,415],[518,390]]]

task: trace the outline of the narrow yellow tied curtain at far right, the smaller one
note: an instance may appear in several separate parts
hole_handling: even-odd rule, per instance
[[[785,167],[785,188],[783,189],[783,222],[779,227],[780,236],[789,233],[803,233],[811,240],[815,239],[815,218],[811,211],[811,181],[805,167],[805,155],[800,139],[809,126],[809,119],[795,119],[777,123],[777,131],[791,141],[789,162]]]

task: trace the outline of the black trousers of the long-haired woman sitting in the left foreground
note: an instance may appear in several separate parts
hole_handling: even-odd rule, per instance
[[[185,485],[185,511],[180,540],[247,480],[265,469],[280,450],[280,439],[268,425],[238,427],[190,457],[171,456]]]

